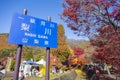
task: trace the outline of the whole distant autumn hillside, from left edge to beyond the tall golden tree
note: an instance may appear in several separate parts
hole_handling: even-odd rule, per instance
[[[16,54],[17,45],[8,44],[8,35],[9,34],[7,33],[0,34],[0,58],[6,56],[15,56]],[[85,40],[68,39],[67,43],[70,46],[80,46],[82,49],[86,49],[86,47],[89,45],[89,41]],[[26,54],[30,51],[32,51],[31,55],[34,56],[34,59],[36,59],[39,56],[43,56],[44,58],[46,55],[46,49],[43,47],[23,46],[22,56],[25,57]]]

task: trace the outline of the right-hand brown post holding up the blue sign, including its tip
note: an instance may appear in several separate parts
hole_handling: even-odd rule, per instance
[[[51,17],[48,17],[48,21],[51,21]],[[50,48],[46,48],[46,80],[49,80],[49,68],[50,68]]]

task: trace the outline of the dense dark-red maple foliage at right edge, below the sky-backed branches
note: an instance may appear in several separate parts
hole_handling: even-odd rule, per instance
[[[95,57],[108,64],[120,66],[120,28],[114,32],[113,27],[103,26],[98,32],[91,39],[92,45],[96,46]]]

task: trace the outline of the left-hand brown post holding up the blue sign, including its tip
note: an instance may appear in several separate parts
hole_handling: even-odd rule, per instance
[[[23,14],[27,15],[27,9],[23,9]],[[18,80],[21,54],[22,54],[22,45],[18,45],[13,80]]]

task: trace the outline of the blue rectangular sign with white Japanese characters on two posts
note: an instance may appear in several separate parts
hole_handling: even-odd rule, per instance
[[[57,48],[57,23],[16,13],[8,43]]]

